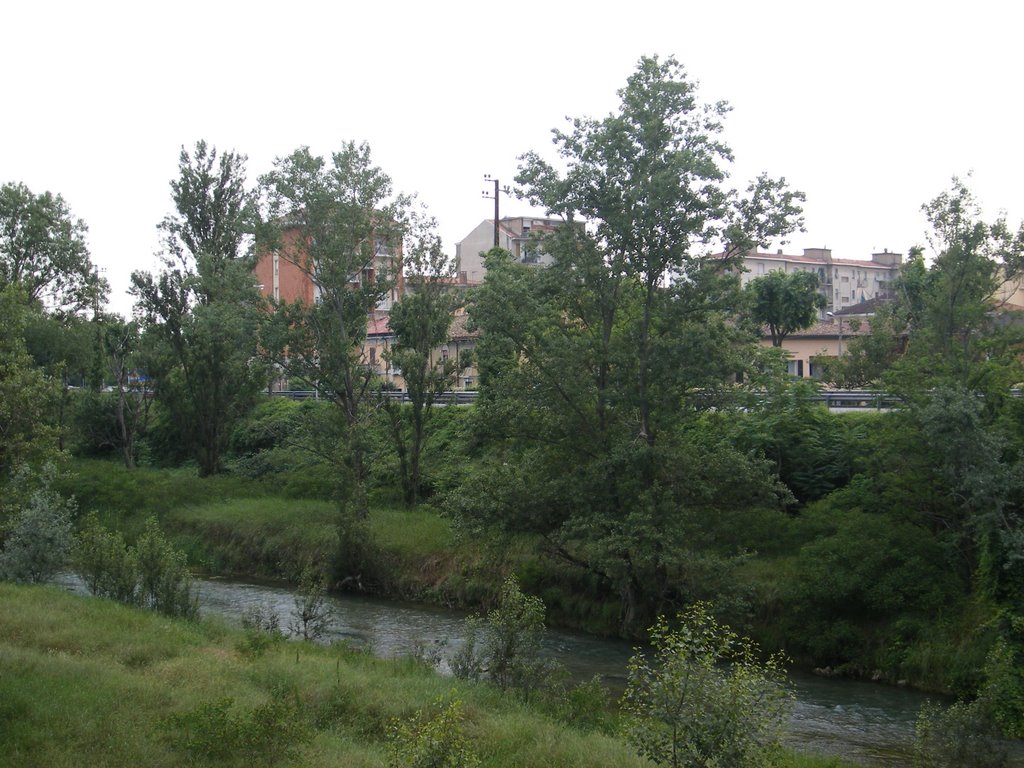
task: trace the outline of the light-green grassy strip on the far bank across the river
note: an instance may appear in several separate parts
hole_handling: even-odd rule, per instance
[[[198,478],[180,469],[126,470],[76,460],[63,481],[81,512],[94,511],[131,540],[156,516],[193,567],[220,574],[295,581],[308,562],[358,577],[365,591],[447,605],[485,603],[510,567],[505,559],[459,542],[449,522],[423,507],[374,505],[360,523],[357,562],[346,561],[338,507],[278,494],[267,482]],[[353,548],[347,548],[351,553]]]

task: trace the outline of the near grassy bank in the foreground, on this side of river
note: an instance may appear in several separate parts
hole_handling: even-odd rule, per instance
[[[11,768],[383,766],[396,720],[454,700],[483,766],[646,765],[612,736],[412,660],[298,642],[256,653],[221,624],[55,588],[0,584],[0,751]]]

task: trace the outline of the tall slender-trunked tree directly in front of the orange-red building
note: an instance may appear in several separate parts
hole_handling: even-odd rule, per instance
[[[264,348],[289,378],[337,407],[343,432],[343,498],[367,512],[367,420],[373,371],[361,346],[370,314],[397,279],[409,201],[371,161],[366,143],[345,143],[330,162],[308,147],[279,158],[260,179],[260,247],[276,250],[312,283],[313,303],[274,306]]]

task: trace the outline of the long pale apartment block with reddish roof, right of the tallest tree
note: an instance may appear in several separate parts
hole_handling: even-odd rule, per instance
[[[889,286],[899,274],[903,256],[884,251],[866,259],[833,258],[828,248],[805,248],[802,255],[753,252],[743,257],[745,271],[740,283],[771,271],[814,272],[818,275],[818,290],[825,297],[826,311],[839,311],[870,299],[885,298]]]

